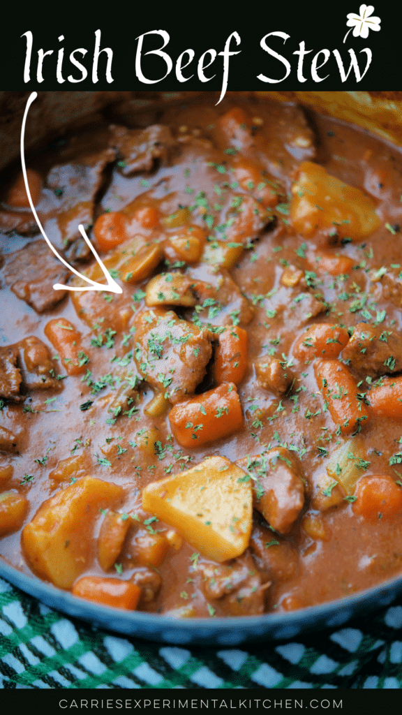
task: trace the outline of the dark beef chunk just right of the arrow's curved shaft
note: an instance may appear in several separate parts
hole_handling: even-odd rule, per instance
[[[57,248],[62,249],[80,237],[79,224],[92,224],[94,199],[103,181],[104,168],[113,162],[112,148],[77,157],[74,162],[57,164],[47,176],[47,185],[57,201],[57,229],[49,219],[45,230]],[[55,199],[56,200],[56,199]]]

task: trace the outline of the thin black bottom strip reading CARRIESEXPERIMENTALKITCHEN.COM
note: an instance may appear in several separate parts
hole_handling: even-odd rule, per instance
[[[1,704],[14,711],[46,707],[58,713],[334,713],[378,715],[384,707],[401,708],[402,695],[396,690],[12,690],[1,693]]]

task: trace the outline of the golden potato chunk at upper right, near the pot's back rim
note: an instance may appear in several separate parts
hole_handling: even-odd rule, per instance
[[[290,219],[305,237],[328,230],[340,239],[359,241],[380,225],[373,199],[331,177],[319,164],[300,164],[292,194]]]

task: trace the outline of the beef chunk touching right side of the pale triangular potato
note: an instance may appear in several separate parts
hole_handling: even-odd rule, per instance
[[[289,533],[305,501],[305,484],[295,455],[275,448],[238,460],[237,465],[255,480],[255,508],[275,531]]]

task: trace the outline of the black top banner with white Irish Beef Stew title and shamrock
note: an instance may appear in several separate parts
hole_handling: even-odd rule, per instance
[[[1,88],[398,88],[400,30],[390,1],[374,8],[360,0],[227,6],[219,16],[216,4],[110,7],[84,16],[81,10],[8,9]]]

